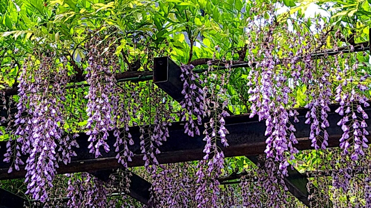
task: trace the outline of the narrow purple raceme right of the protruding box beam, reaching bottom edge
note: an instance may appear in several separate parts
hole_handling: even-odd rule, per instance
[[[217,146],[217,142],[227,147],[226,135],[229,133],[225,127],[224,118],[230,114],[227,112],[228,103],[227,99],[222,100],[226,97],[226,85],[229,82],[232,61],[228,63],[224,59],[222,60],[225,64],[226,72],[218,77],[218,74],[214,74],[211,68],[211,61],[208,62],[209,68],[205,72],[204,83],[212,83],[211,88],[205,86],[203,88],[204,93],[204,116],[209,117],[209,122],[204,124],[205,135],[204,141],[206,145],[203,152],[205,153],[204,160],[201,160],[198,165],[196,172],[197,191],[196,191],[196,202],[197,207],[219,207],[219,197],[217,193],[220,192],[220,182],[217,180],[221,175],[221,170],[224,168],[224,153]],[[216,88],[216,85],[220,85],[220,88]],[[210,155],[213,157],[210,158]]]

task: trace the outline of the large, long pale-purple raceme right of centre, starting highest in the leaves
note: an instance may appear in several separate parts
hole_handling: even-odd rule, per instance
[[[273,8],[269,12],[269,15],[273,17]],[[255,57],[248,56],[249,63],[255,60],[247,77],[249,81],[247,83],[248,93],[251,94],[249,101],[252,102],[250,118],[258,115],[259,121],[265,120],[267,127],[265,153],[268,158],[275,158],[280,162],[279,172],[286,175],[286,168],[289,165],[286,151],[290,152],[290,159],[293,159],[293,155],[298,152],[294,147],[298,143],[294,133],[296,129],[289,121],[290,117],[294,117],[294,122],[298,122],[296,118],[298,113],[292,109],[296,100],[289,94],[292,94],[290,85],[297,83],[296,78],[300,73],[294,74],[289,79],[288,75],[292,71],[292,67],[289,67],[290,60],[280,60],[276,55],[280,50],[282,53],[286,53],[275,43],[275,33],[278,33],[279,36],[280,32],[275,31],[276,26],[272,18],[266,19],[264,24],[266,27],[263,30],[256,30],[257,36],[262,38],[264,42],[258,50],[258,57],[262,57],[262,59],[256,60]],[[253,46],[255,47],[255,44]],[[289,48],[287,53],[288,56],[293,56],[292,48]],[[298,57],[294,59],[298,59]]]

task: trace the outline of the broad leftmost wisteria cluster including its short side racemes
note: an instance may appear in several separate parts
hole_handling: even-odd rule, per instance
[[[21,153],[29,155],[25,167],[26,194],[31,194],[32,198],[41,202],[48,199],[47,189],[53,187],[58,162],[67,164],[71,157],[76,156],[68,147],[77,145],[74,140],[68,141],[69,137],[64,137],[64,130],[61,128],[64,125],[64,88],[68,82],[64,58],[59,60],[62,63],[55,63],[53,52],[47,52],[50,56],[42,55],[40,65],[34,71],[28,72],[27,65],[24,65],[18,78],[20,102],[15,115],[17,119],[14,121],[17,128],[13,132],[16,138],[9,140],[8,150],[4,155],[4,161],[10,161],[10,157],[14,157],[16,170],[19,170],[19,165],[24,164],[20,159]],[[58,66],[56,73],[52,70],[55,66]],[[50,77],[57,81],[52,84]],[[53,87],[50,88],[49,85]],[[49,94],[55,96],[50,97]],[[56,143],[58,140],[59,144]],[[60,150],[57,149],[58,145]],[[12,168],[13,166],[8,172],[12,172]]]

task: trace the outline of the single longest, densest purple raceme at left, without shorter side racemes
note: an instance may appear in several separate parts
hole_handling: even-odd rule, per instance
[[[52,70],[55,70],[52,68],[53,64],[53,58],[42,56],[40,67],[32,74],[35,81],[29,85],[28,90],[29,137],[27,141],[23,141],[25,146],[30,148],[25,168],[27,171],[25,182],[28,183],[26,194],[32,194],[34,199],[41,202],[48,198],[48,186],[53,187],[52,180],[58,168],[55,141],[60,140],[64,132],[61,128],[63,117],[60,112],[63,108],[60,102],[63,99],[50,95],[63,91],[66,71],[64,67],[60,67],[57,70],[59,73],[52,75]],[[53,88],[49,88],[50,77],[56,80]]]

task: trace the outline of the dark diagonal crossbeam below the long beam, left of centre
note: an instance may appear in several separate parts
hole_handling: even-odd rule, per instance
[[[130,180],[130,188],[129,192],[125,192],[125,194],[129,195],[130,197],[137,199],[138,201],[142,202],[143,204],[150,206],[150,188],[152,184],[143,178],[139,177],[139,175],[131,172],[131,176],[127,174],[127,177]],[[102,170],[102,171],[92,171],[89,172],[91,175],[95,176],[101,181],[109,182],[109,176],[111,174],[115,174],[115,170]],[[114,186],[117,186],[119,181],[113,181]]]

